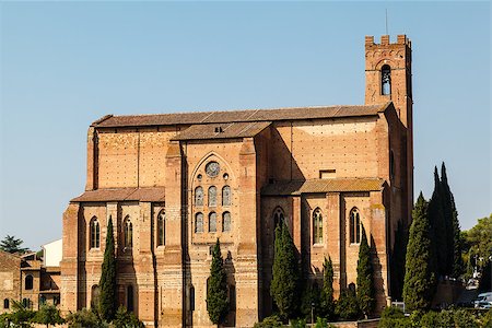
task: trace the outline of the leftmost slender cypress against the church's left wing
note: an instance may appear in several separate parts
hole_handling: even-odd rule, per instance
[[[112,218],[109,218],[107,224],[106,248],[104,250],[99,288],[99,315],[106,321],[112,321],[115,318],[117,306],[115,237],[113,235]]]

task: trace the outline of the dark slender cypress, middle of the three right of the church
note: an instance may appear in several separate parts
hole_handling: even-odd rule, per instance
[[[448,227],[444,216],[444,195],[443,188],[437,173],[434,167],[434,191],[429,201],[427,215],[431,224],[431,247],[432,251],[432,270],[437,276],[445,276],[449,272],[448,263]]]

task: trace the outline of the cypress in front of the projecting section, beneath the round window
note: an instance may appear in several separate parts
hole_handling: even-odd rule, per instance
[[[212,250],[212,265],[207,288],[207,311],[210,320],[215,325],[222,324],[229,313],[227,274],[224,269],[219,238]]]

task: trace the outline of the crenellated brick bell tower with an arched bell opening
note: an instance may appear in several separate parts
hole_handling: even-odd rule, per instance
[[[395,105],[403,130],[401,161],[407,164],[407,178],[402,187],[410,213],[413,208],[412,51],[406,35],[398,35],[396,43],[389,42],[389,35],[383,35],[379,44],[374,43],[373,36],[365,37],[365,104],[387,102]]]

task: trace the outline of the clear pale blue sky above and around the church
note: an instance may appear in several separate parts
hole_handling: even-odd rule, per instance
[[[61,237],[106,114],[363,104],[364,36],[413,48],[415,192],[492,212],[489,2],[1,2],[0,237]]]

